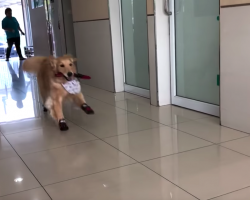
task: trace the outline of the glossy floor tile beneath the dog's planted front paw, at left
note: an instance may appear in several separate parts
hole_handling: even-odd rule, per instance
[[[97,139],[80,127],[69,123],[69,130],[62,132],[57,126],[6,135],[18,154],[27,154]]]

